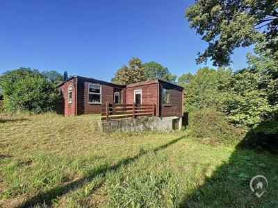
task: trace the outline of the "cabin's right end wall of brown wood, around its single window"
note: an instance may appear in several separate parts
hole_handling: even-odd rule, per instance
[[[163,87],[170,89],[170,106],[163,105]],[[169,83],[159,82],[159,114],[161,116],[183,116],[183,89]]]

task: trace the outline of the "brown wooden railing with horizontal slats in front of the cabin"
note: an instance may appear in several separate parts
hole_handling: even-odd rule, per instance
[[[101,121],[111,119],[137,118],[139,116],[155,116],[156,105],[138,105],[138,104],[111,104],[101,105]]]

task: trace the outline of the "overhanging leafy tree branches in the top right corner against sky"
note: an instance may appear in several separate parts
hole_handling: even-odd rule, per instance
[[[199,0],[186,10],[190,28],[208,42],[197,63],[213,60],[213,65],[228,65],[231,54],[240,46],[265,42],[265,49],[278,49],[277,1]]]

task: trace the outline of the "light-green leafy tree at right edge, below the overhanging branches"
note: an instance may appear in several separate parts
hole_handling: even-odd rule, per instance
[[[278,60],[262,53],[261,46],[247,55],[247,68],[234,73],[225,87],[231,96],[224,98],[224,112],[236,125],[254,128],[278,119]]]

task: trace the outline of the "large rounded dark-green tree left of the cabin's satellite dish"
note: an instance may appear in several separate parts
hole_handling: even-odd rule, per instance
[[[28,110],[41,113],[54,107],[58,92],[53,83],[38,70],[20,68],[0,76],[3,109],[8,112]]]

